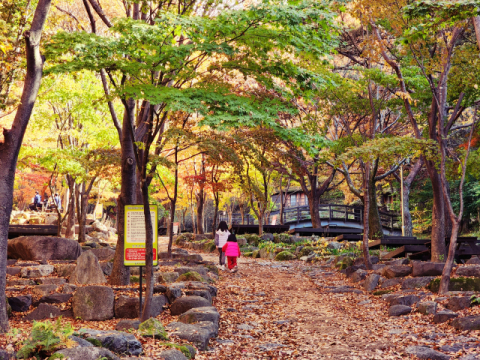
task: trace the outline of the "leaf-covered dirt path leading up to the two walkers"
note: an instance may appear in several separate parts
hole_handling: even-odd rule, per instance
[[[345,284],[329,269],[248,258],[239,259],[239,269],[220,273],[220,332],[200,359],[405,358],[392,347],[390,330],[402,332],[398,320],[366,294],[325,292],[323,286]]]

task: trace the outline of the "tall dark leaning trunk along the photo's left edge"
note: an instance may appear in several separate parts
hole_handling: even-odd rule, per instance
[[[27,72],[21,102],[12,128],[3,129],[4,142],[0,144],[0,333],[8,331],[5,287],[8,225],[13,205],[15,171],[23,136],[30,121],[42,80],[43,60],[40,54],[40,39],[50,4],[51,0],[39,0],[30,31],[25,32]]]

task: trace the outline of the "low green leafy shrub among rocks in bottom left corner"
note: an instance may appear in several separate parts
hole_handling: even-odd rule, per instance
[[[62,325],[61,318],[56,322],[33,322],[32,332],[17,352],[17,358],[38,357],[44,359],[57,350],[75,345],[69,336],[73,334],[70,323]]]

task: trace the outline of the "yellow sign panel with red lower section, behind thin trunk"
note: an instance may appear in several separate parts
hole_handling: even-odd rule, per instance
[[[153,228],[153,265],[158,264],[158,207],[150,205]],[[125,266],[145,266],[145,214],[143,205],[125,206]]]

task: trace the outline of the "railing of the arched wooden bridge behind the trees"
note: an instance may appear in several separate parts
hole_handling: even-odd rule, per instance
[[[335,204],[320,204],[318,206],[320,220],[330,223],[344,222],[363,224],[363,207],[351,205],[335,205]],[[280,223],[280,211],[275,210],[268,214],[265,219],[266,224],[271,224],[272,218],[277,216],[276,223]],[[380,222],[384,228],[394,229],[400,228],[400,217],[396,214],[379,212]],[[308,206],[297,206],[283,209],[283,221],[285,224],[299,224],[302,221],[310,220],[310,208]],[[227,221],[228,216],[220,215],[220,221]],[[232,222],[235,224],[242,224],[242,217],[240,213],[232,214]],[[243,224],[254,225],[258,224],[258,220],[246,213]]]

